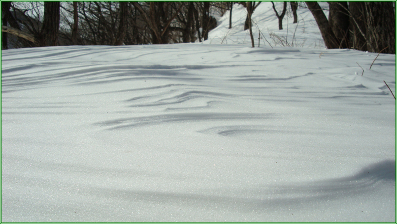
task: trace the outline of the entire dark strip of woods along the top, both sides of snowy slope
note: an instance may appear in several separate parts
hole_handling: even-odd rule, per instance
[[[223,15],[238,3],[247,8],[245,29],[261,2],[251,1],[65,1],[1,2],[2,49],[56,45],[137,45],[204,41],[216,27],[211,15]],[[273,2],[272,2],[273,3]],[[329,16],[316,1],[306,1],[325,45],[396,53],[396,8],[392,1],[331,1]],[[296,11],[303,2],[291,1]],[[287,2],[275,16],[282,29]],[[44,12],[38,8],[44,8]],[[35,11],[36,15],[28,15]],[[41,13],[41,14],[40,14]],[[230,20],[230,28],[232,27]],[[9,34],[7,35],[7,32]],[[11,35],[11,33],[13,35]],[[251,39],[252,31],[250,30]],[[253,40],[252,40],[253,43]],[[254,44],[253,44],[254,45]]]

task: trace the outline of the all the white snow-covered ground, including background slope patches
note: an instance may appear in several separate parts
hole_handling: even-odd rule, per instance
[[[242,23],[2,51],[1,222],[396,222],[395,55],[251,48]]]

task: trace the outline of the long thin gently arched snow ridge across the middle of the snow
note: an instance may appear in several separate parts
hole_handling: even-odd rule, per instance
[[[196,113],[174,113],[166,115],[154,115],[143,117],[120,118],[107,120],[94,125],[111,126],[107,130],[132,128],[144,125],[158,125],[174,122],[197,122],[197,121],[214,121],[214,120],[254,120],[254,119],[271,119],[274,113],[216,113],[216,112],[196,112]]]

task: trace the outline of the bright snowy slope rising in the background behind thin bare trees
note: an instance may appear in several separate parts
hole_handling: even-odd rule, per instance
[[[276,10],[281,14],[283,2],[274,2]],[[303,4],[303,3],[299,3]],[[327,2],[320,2],[323,8],[328,8]],[[304,6],[304,4],[303,4]],[[283,19],[283,29],[278,29],[278,19],[270,1],[259,4],[252,15],[252,32],[255,46],[258,46],[259,33],[261,34],[260,46],[292,46],[324,49],[325,44],[321,37],[309,9],[298,7],[298,23],[294,24],[294,18],[288,4],[287,13]],[[215,16],[215,15],[214,15]],[[328,13],[327,13],[328,16]],[[244,30],[247,10],[240,4],[234,4],[232,9],[232,28],[229,29],[230,13],[225,13],[218,18],[218,26],[211,30],[206,44],[247,44],[251,46],[249,30]]]

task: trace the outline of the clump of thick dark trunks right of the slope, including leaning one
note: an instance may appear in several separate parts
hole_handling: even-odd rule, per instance
[[[313,14],[327,48],[352,47],[396,54],[396,14],[393,2],[330,2],[330,20],[315,1]]]

